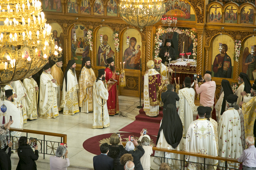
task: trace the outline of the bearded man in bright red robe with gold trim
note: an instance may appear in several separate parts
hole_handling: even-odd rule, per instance
[[[112,57],[107,59],[108,65],[105,69],[106,82],[108,89],[108,115],[115,115],[119,113],[119,100],[117,85],[119,85],[119,77],[116,74],[116,67]]]

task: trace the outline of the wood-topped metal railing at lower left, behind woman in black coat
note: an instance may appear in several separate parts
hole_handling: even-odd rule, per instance
[[[15,141],[18,141],[20,137],[11,136],[11,131],[26,133],[27,137],[29,133],[43,135],[43,139],[37,139],[37,145],[38,145],[38,153],[41,153],[44,155],[45,154],[55,155],[55,150],[57,149],[58,146],[60,146],[60,143],[67,143],[67,135],[65,134],[43,132],[43,131],[29,130],[29,129],[18,129],[18,128],[10,128],[10,131],[9,131],[10,136],[6,136],[6,137],[10,137],[12,141],[14,138],[16,138]],[[45,140],[45,136],[60,137],[60,142]],[[14,145],[12,145],[12,150],[17,150],[17,148],[15,148]]]

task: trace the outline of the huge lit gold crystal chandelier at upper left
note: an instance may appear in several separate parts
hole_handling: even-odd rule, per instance
[[[50,55],[61,56],[41,11],[39,0],[1,0],[0,86],[35,74]]]

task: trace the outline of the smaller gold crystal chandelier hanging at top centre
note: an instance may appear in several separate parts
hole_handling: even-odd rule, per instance
[[[119,12],[122,19],[140,31],[145,26],[158,22],[165,13],[163,0],[120,0]]]

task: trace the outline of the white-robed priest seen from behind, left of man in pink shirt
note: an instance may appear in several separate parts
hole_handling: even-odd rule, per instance
[[[179,108],[178,114],[182,122],[183,137],[186,137],[188,127],[193,122],[193,112],[196,111],[196,105],[194,103],[196,92],[191,88],[191,78],[186,77],[183,85],[185,88],[179,90],[178,96],[180,100],[176,102],[176,106]]]

